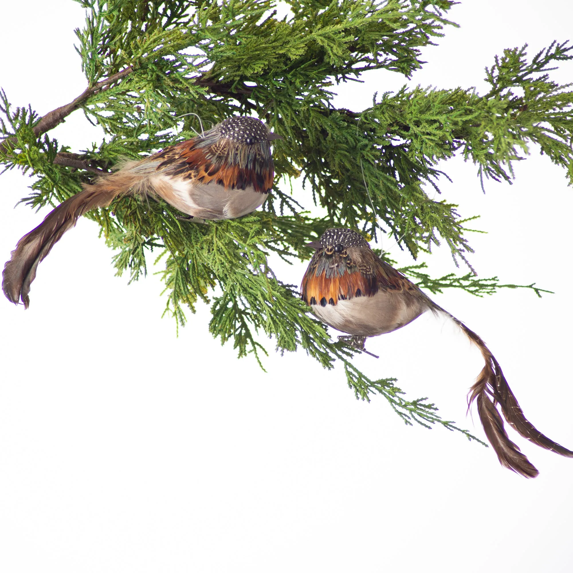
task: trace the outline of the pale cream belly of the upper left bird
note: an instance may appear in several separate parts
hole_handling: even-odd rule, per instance
[[[268,193],[245,189],[225,189],[219,183],[201,183],[188,177],[155,175],[152,186],[167,203],[183,213],[202,219],[234,219],[258,209]]]

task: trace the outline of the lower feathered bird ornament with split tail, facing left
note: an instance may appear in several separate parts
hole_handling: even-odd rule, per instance
[[[562,456],[573,452],[541,434],[525,418],[501,367],[484,341],[456,317],[429,299],[402,273],[377,257],[364,238],[351,229],[328,229],[319,241],[303,277],[302,297],[324,323],[347,332],[363,344],[367,336],[392,332],[423,312],[452,319],[475,344],[485,366],[470,388],[468,407],[475,400],[485,435],[501,465],[525,477],[539,472],[509,439],[503,419],[524,438]],[[492,401],[493,398],[493,401]]]

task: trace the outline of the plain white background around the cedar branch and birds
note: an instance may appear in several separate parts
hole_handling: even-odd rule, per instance
[[[570,38],[572,15],[569,2],[464,2],[450,13],[461,28],[425,50],[411,84],[484,93],[495,54],[529,42],[531,56]],[[83,91],[76,26],[83,13],[70,1],[2,2],[0,85],[14,105],[43,114]],[[573,64],[552,74],[571,81]],[[367,80],[341,86],[336,104],[363,109],[403,83]],[[100,133],[76,112],[50,136],[77,151]],[[571,190],[531,153],[513,186],[488,181],[485,195],[472,164],[450,161],[442,197],[482,215],[473,225],[488,234],[471,237],[481,277],[555,295],[435,299],[484,337],[528,418],[573,448]],[[2,260],[48,213],[13,209],[29,184],[16,171],[0,178]],[[28,311],[0,301],[1,571],[573,569],[573,460],[509,430],[540,470],[525,480],[490,448],[406,427],[381,398],[356,401],[342,371],[301,352],[271,354],[265,374],[211,339],[203,305],[176,337],[160,317],[159,278],[114,277],[97,232],[81,219],[66,234],[40,265]],[[453,270],[446,252],[429,259],[433,276]],[[304,272],[277,268],[289,282]],[[451,325],[423,316],[368,348],[380,354],[359,359],[368,374],[397,377],[483,435],[477,414],[476,426],[465,415],[480,357]]]

